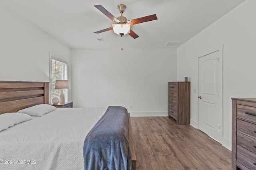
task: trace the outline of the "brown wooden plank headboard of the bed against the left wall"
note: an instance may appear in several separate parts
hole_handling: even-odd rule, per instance
[[[49,104],[49,82],[0,81],[0,114]]]

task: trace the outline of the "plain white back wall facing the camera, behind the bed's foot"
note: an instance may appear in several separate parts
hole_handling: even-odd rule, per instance
[[[74,106],[167,116],[168,81],[176,81],[176,70],[176,49],[72,49]]]

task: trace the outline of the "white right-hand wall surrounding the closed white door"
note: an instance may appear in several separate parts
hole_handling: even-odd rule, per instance
[[[198,57],[223,48],[223,145],[231,149],[232,97],[256,97],[256,1],[246,0],[177,49],[177,79],[198,89]],[[191,93],[191,120],[198,120],[198,93]],[[196,126],[194,124],[194,126]],[[198,128],[198,127],[197,127]]]

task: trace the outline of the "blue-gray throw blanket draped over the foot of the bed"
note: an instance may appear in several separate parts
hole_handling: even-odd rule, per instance
[[[109,106],[84,140],[85,170],[132,170],[127,109]]]

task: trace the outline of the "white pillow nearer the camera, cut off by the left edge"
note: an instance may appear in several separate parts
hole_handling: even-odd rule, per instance
[[[30,115],[23,113],[4,113],[0,115],[0,131],[8,129],[18,123],[31,120]]]

